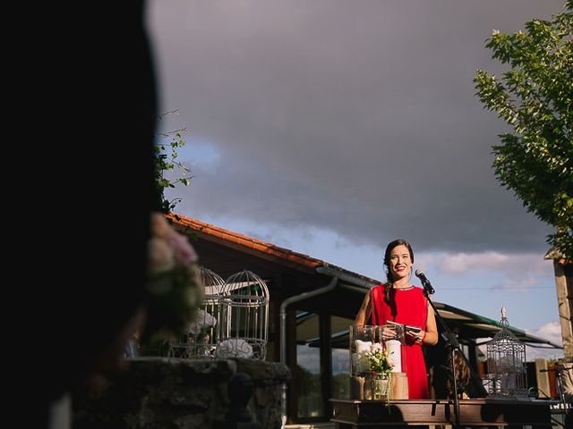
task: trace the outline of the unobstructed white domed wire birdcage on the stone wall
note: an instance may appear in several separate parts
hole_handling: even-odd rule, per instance
[[[223,288],[217,357],[264,360],[269,337],[269,289],[247,270],[231,275]]]

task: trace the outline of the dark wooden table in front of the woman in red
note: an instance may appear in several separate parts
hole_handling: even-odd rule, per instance
[[[337,429],[454,425],[453,400],[330,400]],[[551,428],[552,400],[475,399],[459,401],[460,425]]]

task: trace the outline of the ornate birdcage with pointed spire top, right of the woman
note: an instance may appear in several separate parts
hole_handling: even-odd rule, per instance
[[[484,387],[496,398],[526,398],[526,345],[507,329],[505,307],[501,307],[500,324],[500,332],[486,344],[488,374]]]

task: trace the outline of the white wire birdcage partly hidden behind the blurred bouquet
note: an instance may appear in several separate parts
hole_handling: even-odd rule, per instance
[[[169,357],[215,356],[220,303],[225,281],[204,266],[199,267],[199,275],[205,290],[201,307],[180,342],[170,345]]]

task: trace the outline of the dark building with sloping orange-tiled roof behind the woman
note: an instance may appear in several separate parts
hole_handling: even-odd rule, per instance
[[[179,214],[167,217],[178,231],[192,237],[202,266],[223,279],[246,269],[266,282],[270,295],[267,360],[278,361],[281,344],[284,344],[285,363],[293,372],[287,422],[328,421],[331,411],[328,400],[333,397],[336,383],[333,374],[339,371],[338,367],[333,368],[334,359],[347,357],[344,352],[348,347],[348,326],[353,323],[364,295],[381,282],[216,225]],[[293,300],[293,297],[333,285],[335,278],[336,286],[328,291],[296,300],[286,307],[286,339],[281,339],[281,304],[286,299]],[[466,344],[470,363],[475,364],[475,340],[492,337],[500,330],[499,322],[443,303],[436,303],[436,307],[447,323],[458,325],[459,340]],[[509,330],[528,345],[560,348],[515,327],[509,326]],[[319,370],[310,374],[304,369],[305,365]],[[314,378],[309,382],[311,375]],[[312,391],[304,391],[310,389],[307,384],[312,385]]]

